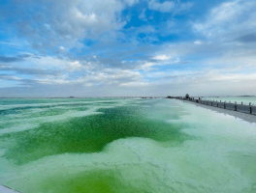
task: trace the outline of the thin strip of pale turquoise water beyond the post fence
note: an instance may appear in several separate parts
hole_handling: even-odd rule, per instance
[[[256,97],[255,96],[219,96],[219,97],[203,97],[203,99],[214,99],[214,100],[221,100],[221,101],[231,101],[232,103],[237,102],[240,104],[241,102],[243,104],[249,104],[251,102],[251,105],[256,106]]]

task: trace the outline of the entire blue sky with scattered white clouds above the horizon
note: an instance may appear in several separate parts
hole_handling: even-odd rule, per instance
[[[255,0],[0,0],[0,96],[256,95]]]

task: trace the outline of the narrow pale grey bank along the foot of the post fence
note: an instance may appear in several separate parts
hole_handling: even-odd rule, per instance
[[[200,107],[212,110],[212,111],[216,111],[218,113],[224,113],[224,114],[227,114],[227,115],[231,115],[233,117],[239,118],[239,119],[241,119],[245,122],[251,123],[251,124],[252,123],[256,124],[256,116],[255,115],[240,113],[240,112],[237,112],[237,111],[218,108],[218,107],[214,107],[214,106],[208,106],[208,105],[205,105],[205,104],[195,103],[195,102],[191,102],[191,101],[188,101],[188,100],[186,100],[184,102],[194,104],[196,106],[200,106]]]

